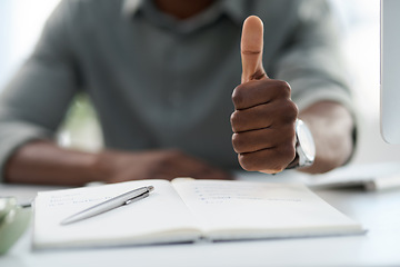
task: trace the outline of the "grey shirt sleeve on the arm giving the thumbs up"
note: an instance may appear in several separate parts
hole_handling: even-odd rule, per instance
[[[291,13],[296,26],[286,48],[276,58],[273,78],[289,82],[299,110],[319,101],[334,101],[346,107],[353,117],[356,145],[358,111],[343,60],[339,21],[328,1],[296,2]]]

